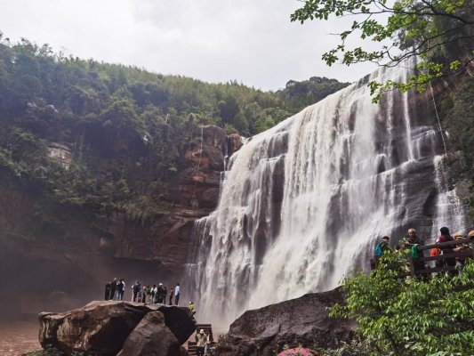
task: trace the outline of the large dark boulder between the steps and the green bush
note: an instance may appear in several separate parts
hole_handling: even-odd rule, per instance
[[[285,345],[333,348],[349,342],[356,324],[329,318],[326,307],[334,303],[343,303],[338,289],[247,311],[230,325],[217,354],[264,356],[275,355]]]

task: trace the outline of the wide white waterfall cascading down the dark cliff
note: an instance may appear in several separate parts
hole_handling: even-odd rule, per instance
[[[336,287],[368,265],[382,235],[420,227],[428,238],[442,219],[462,227],[430,102],[399,92],[371,102],[367,80],[408,75],[379,69],[230,158],[218,208],[195,226],[187,288],[200,320],[225,325],[245,309]]]

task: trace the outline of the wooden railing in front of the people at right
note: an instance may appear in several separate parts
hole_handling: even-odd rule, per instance
[[[446,254],[443,255],[443,252],[441,252],[441,255],[436,255],[436,256],[428,256],[428,257],[419,257],[419,258],[412,258],[411,256],[408,257],[408,263],[410,266],[410,271],[401,273],[400,277],[406,277],[406,276],[416,276],[420,274],[431,274],[431,273],[442,273],[445,271],[454,271],[456,269],[456,266],[443,266],[443,267],[430,267],[429,265],[426,265],[426,262],[430,261],[442,261],[446,260],[448,258],[456,258],[456,257],[471,257],[474,258],[474,239],[456,239],[454,241],[448,241],[448,242],[443,242],[443,243],[436,243],[436,244],[430,244],[430,245],[423,245],[423,246],[418,246],[417,250],[418,252],[422,251],[431,251],[432,248],[440,248],[440,247],[457,247],[457,245],[468,245],[470,248],[467,248],[462,251],[454,252],[452,254]],[[415,266],[415,263],[418,264],[417,262],[422,262],[424,263],[424,269],[418,269]],[[377,267],[377,261],[376,259],[371,259],[372,265],[376,268]]]

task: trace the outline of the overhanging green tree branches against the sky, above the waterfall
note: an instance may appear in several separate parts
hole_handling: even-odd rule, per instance
[[[386,90],[402,91],[415,87],[422,91],[436,77],[453,75],[465,69],[472,58],[474,11],[472,0],[306,0],[293,12],[291,20],[328,20],[330,16],[355,16],[352,26],[339,34],[341,43],[322,58],[331,66],[341,61],[348,66],[371,61],[393,67],[419,57],[419,73],[406,83],[370,82],[377,101]],[[386,23],[384,23],[386,19]],[[377,51],[362,46],[348,49],[349,36],[360,36],[380,43]],[[390,43],[390,44],[389,44]],[[389,62],[387,62],[389,61]]]

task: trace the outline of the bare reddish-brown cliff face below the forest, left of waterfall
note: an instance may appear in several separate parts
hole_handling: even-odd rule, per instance
[[[224,131],[213,125],[198,127],[193,137],[183,153],[185,168],[175,182],[165,183],[170,208],[151,223],[130,221],[121,212],[100,221],[64,208],[66,231],[51,229],[47,238],[25,236],[25,227],[36,223],[42,197],[0,190],[0,278],[10,280],[8,287],[0,286],[0,317],[100,299],[103,285],[114,277],[125,278],[128,286],[135,279],[174,286],[187,263],[194,221],[217,204],[228,144]]]

